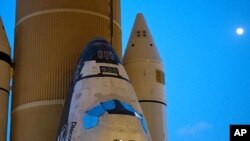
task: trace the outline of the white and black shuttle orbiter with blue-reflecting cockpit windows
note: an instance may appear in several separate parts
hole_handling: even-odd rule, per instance
[[[83,140],[152,141],[128,75],[104,39],[80,56],[56,139]]]

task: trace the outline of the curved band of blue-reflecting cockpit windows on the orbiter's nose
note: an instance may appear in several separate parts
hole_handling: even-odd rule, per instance
[[[86,111],[82,120],[85,129],[91,129],[98,125],[99,117],[105,114],[121,114],[135,116],[140,121],[143,130],[147,133],[147,124],[141,113],[136,111],[130,104],[113,99],[101,102],[97,106]]]

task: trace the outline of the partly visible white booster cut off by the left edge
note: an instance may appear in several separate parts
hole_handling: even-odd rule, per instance
[[[0,17],[0,141],[6,140],[10,71],[10,45]]]

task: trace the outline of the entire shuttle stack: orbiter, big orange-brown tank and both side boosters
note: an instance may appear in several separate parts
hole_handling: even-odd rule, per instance
[[[120,0],[16,5],[12,141],[167,141],[164,66],[142,14],[122,59]],[[5,141],[12,61],[0,25]]]

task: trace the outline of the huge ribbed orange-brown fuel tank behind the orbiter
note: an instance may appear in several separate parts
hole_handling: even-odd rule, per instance
[[[113,46],[121,57],[120,1]],[[109,0],[17,0],[12,141],[54,141],[72,73],[87,42],[111,41]]]

